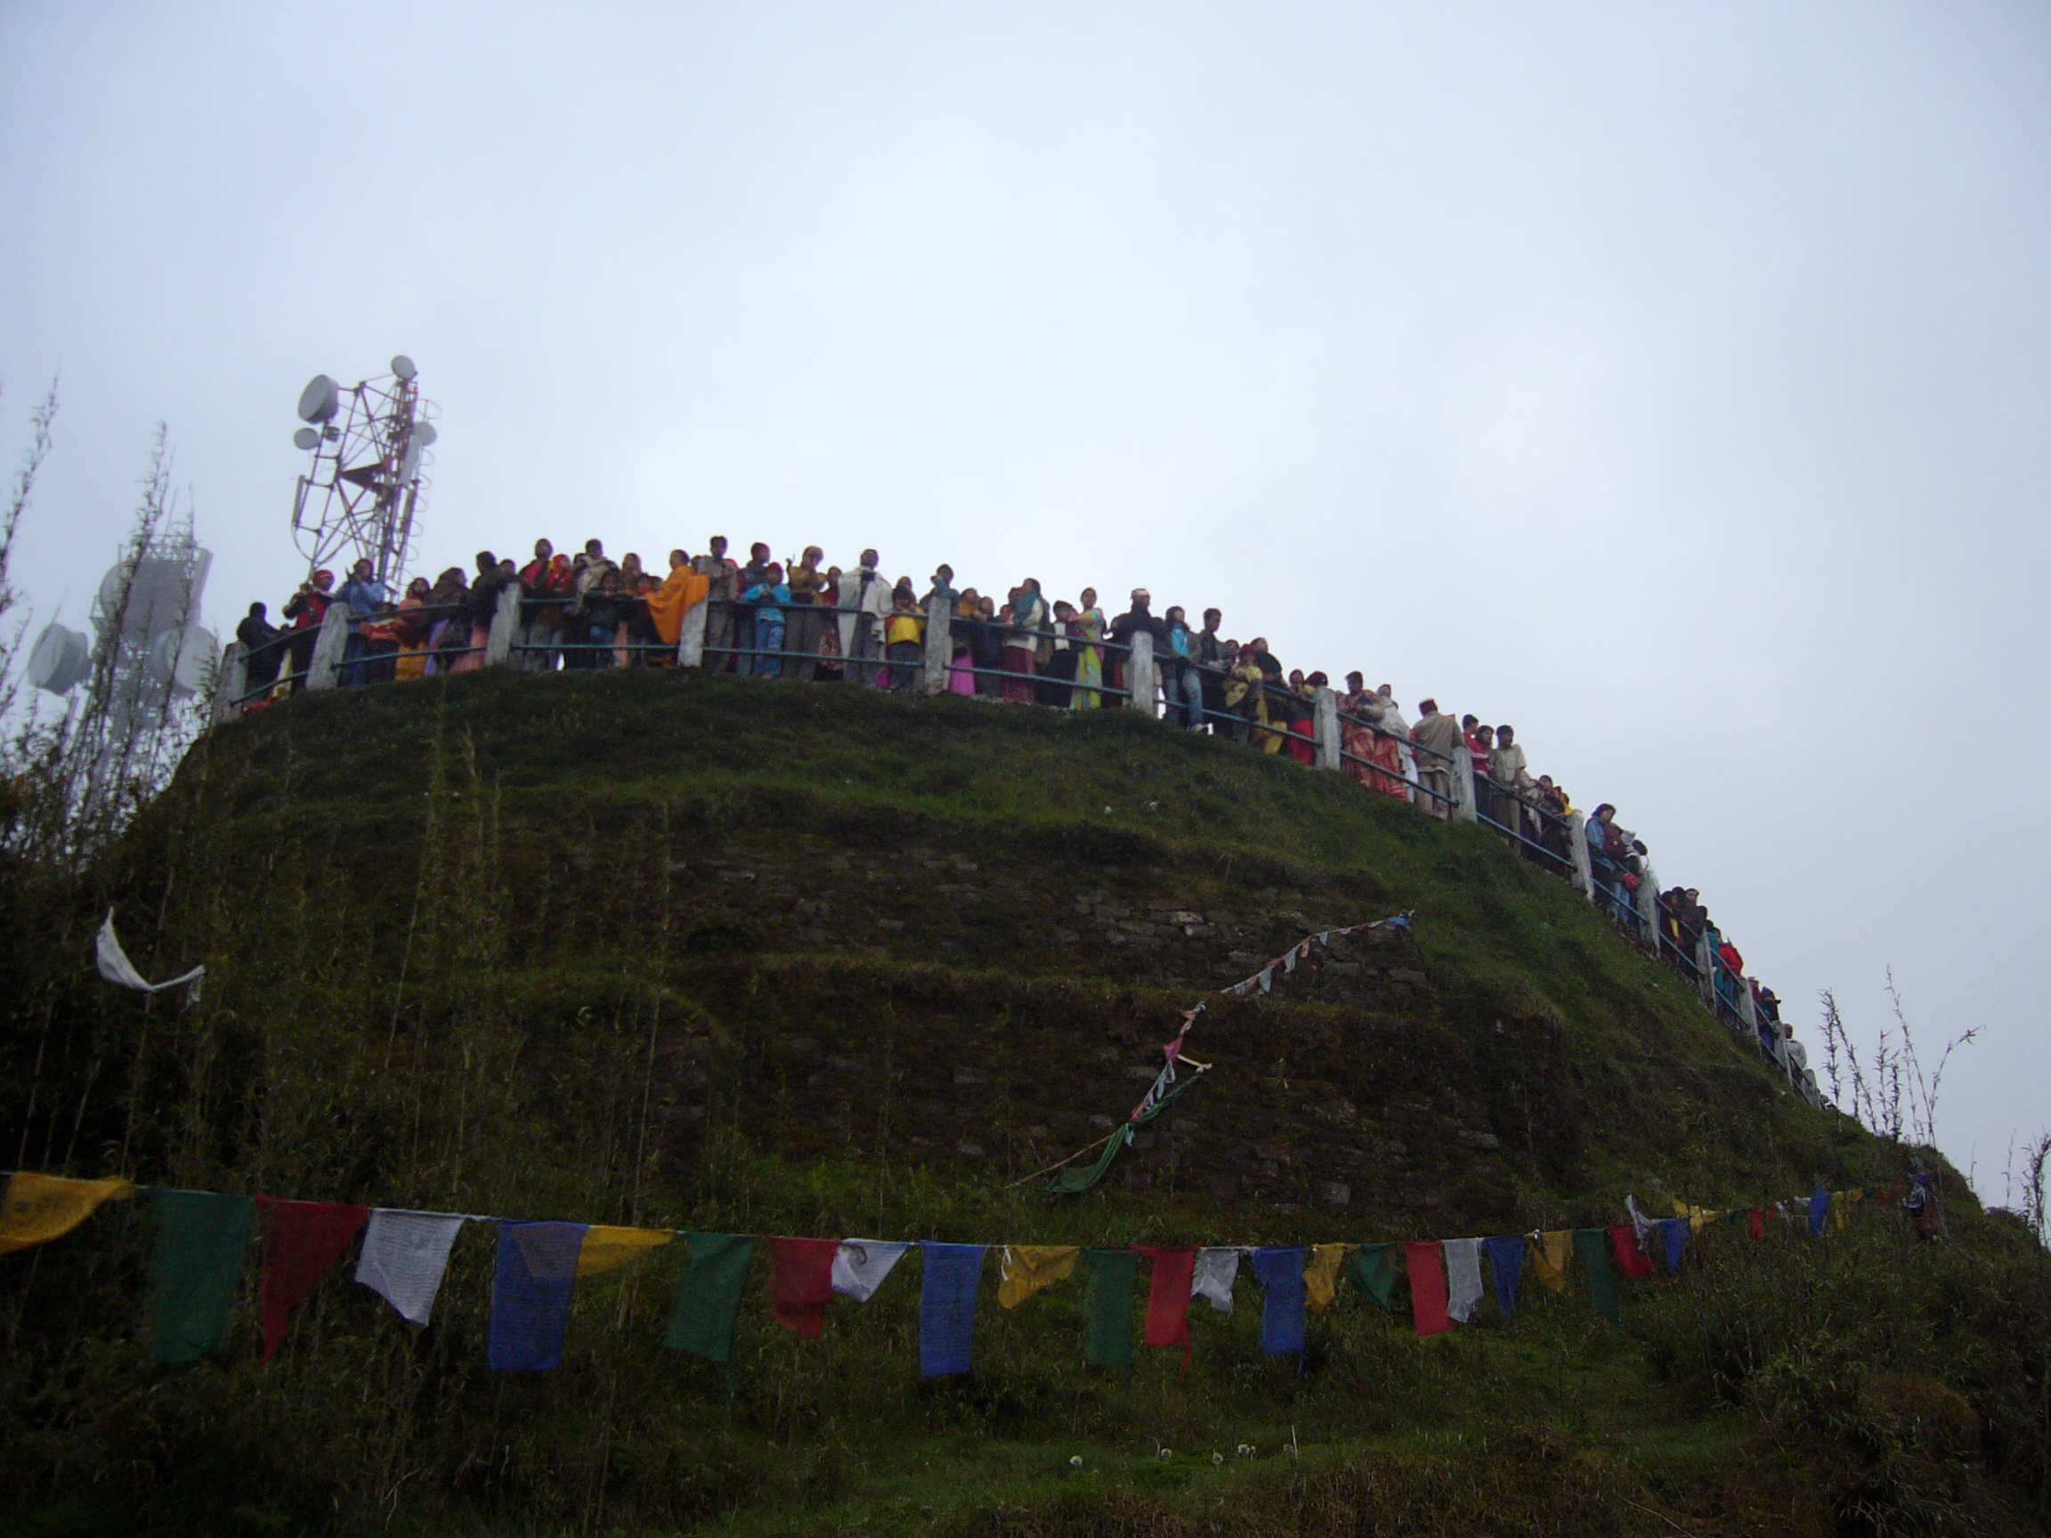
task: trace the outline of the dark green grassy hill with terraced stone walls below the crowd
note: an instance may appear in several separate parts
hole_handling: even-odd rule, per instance
[[[1323,1243],[1616,1222],[1899,1179],[1672,974],[1473,826],[1132,712],[671,673],[289,701],[205,740],[82,880],[8,872],[29,1169],[695,1230]],[[119,908],[152,974],[80,976]],[[1032,1171],[1218,1066],[1079,1200]],[[490,1374],[492,1241],[414,1337],[336,1269],[148,1362],[148,1228],[29,1255],[0,1438],[43,1532],[2026,1532],[2047,1276],[1946,1175],[1953,1241],[1713,1230],[1678,1278],[1419,1343],[1343,1296],[1298,1364],[1257,1292],[1188,1376],[1081,1366],[1083,1284],[984,1290],[917,1376],[917,1261],[825,1339],[751,1282],[732,1374],[660,1347],[681,1257],[578,1286],[564,1366]],[[995,1257],[991,1263],[995,1276]],[[1536,1296],[1532,1296],[1536,1294]],[[1247,1446],[1253,1452],[1241,1454]],[[1214,1454],[1222,1462],[1214,1462]],[[1081,1458],[1075,1468],[1071,1458]],[[4,1509],[4,1507],[0,1507]]]

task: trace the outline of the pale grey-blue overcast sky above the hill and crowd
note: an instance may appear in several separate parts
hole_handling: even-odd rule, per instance
[[[2051,1124],[2051,12],[0,8],[0,451],[82,625],[152,424],[209,623],[420,367],[420,570],[712,533],[1136,582],[1510,720],[1817,1046]],[[62,613],[59,613],[62,605]],[[1762,1193],[1770,1196],[1770,1193]]]

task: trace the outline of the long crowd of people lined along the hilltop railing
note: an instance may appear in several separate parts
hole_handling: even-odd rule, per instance
[[[367,560],[340,586],[332,572],[318,570],[285,603],[283,625],[252,603],[236,628],[246,669],[240,703],[258,707],[306,679],[332,605],[345,605],[349,619],[336,673],[345,687],[484,666],[492,621],[511,589],[519,593],[519,625],[507,660],[517,669],[675,666],[685,615],[706,605],[706,671],[911,691],[925,679],[927,621],[939,603],[950,617],[950,693],[1056,710],[1120,703],[1130,699],[1132,640],[1144,634],[1169,722],[1304,765],[1315,761],[1317,699],[1331,687],[1327,675],[1284,669],[1265,636],[1224,636],[1218,609],[1204,609],[1202,623],[1190,625],[1185,609],[1169,605],[1157,615],[1153,595],[1132,589],[1128,607],[1108,615],[1095,589],[1085,586],[1073,603],[1050,601],[1032,576],[999,603],[972,586],[958,589],[950,566],[939,566],[923,591],[909,576],[890,580],[874,550],[863,550],[849,570],[822,566],[818,545],[783,562],[767,543],[751,545],[747,562],[726,550],[720,535],[701,556],[673,550],[658,576],[632,552],[613,562],[599,539],[587,539],[576,554],[537,539],[525,566],[484,550],[472,572],[449,566],[433,582],[416,576],[398,599]],[[1411,722],[1391,685],[1368,689],[1362,673],[1348,673],[1335,699],[1339,767],[1360,785],[1452,818],[1456,767],[1466,755],[1475,816],[1514,853],[1573,874],[1573,802],[1551,775],[1532,775],[1514,726],[1454,718],[1436,699],[1417,701]],[[1696,982],[1698,941],[1708,935],[1719,1011],[1739,1019],[1737,988],[1750,988],[1762,1044],[1768,1021],[1778,1042],[1778,1001],[1743,976],[1743,958],[1708,923],[1696,892],[1661,894],[1649,923],[1639,898],[1651,876],[1645,843],[1616,822],[1608,802],[1587,814],[1583,833],[1598,906]],[[1780,1060],[1778,1050],[1770,1056]]]

